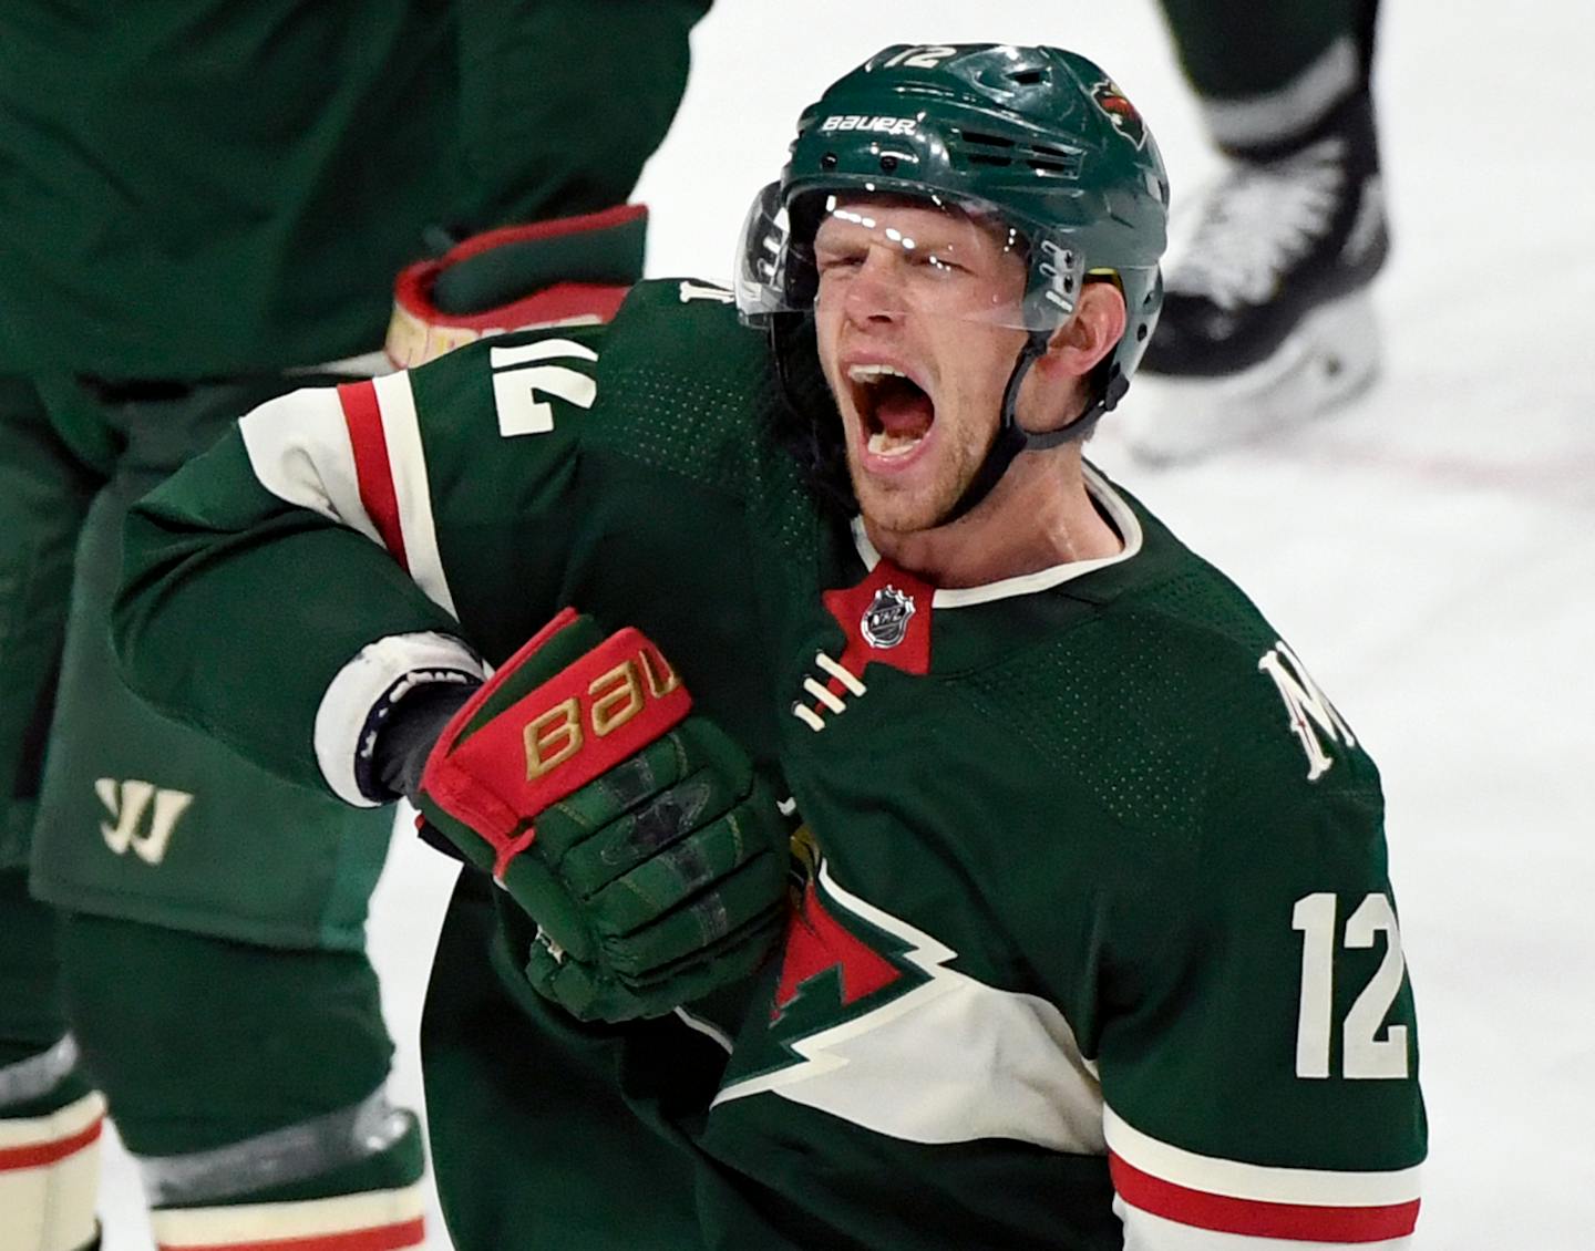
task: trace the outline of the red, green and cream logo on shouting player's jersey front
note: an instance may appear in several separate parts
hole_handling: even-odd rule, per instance
[[[877,888],[924,897],[911,878]],[[1102,1154],[1101,1088],[1059,1009],[955,963],[954,948],[821,862],[769,1009],[743,1025],[715,1106],[737,1116],[740,1100],[774,1095],[908,1143],[1013,1138]]]

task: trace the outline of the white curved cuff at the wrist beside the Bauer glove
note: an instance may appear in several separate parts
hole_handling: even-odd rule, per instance
[[[316,709],[316,762],[327,786],[345,803],[376,806],[356,782],[354,762],[360,751],[360,731],[370,711],[396,682],[424,669],[464,669],[486,677],[482,663],[459,639],[424,631],[389,634],[367,644],[327,684]]]

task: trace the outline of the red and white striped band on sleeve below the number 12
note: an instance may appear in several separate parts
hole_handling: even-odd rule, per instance
[[[1420,1170],[1278,1168],[1198,1155],[1102,1109],[1128,1251],[1400,1251]]]

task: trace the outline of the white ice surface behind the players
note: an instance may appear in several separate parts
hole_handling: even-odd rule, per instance
[[[1150,0],[719,0],[640,188],[649,273],[727,279],[817,88],[887,43],[943,40],[1078,48],[1152,121],[1176,202],[1212,169]],[[1112,421],[1093,451],[1252,593],[1381,765],[1432,1133],[1416,1245],[1434,1251],[1595,1246],[1592,46],[1574,0],[1388,5],[1384,379],[1191,469],[1128,464]],[[372,918],[410,1103],[439,865],[399,840]],[[148,1251],[115,1149],[102,1210],[107,1251]]]

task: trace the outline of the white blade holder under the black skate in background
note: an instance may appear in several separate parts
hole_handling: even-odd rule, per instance
[[[1268,360],[1228,378],[1140,375],[1120,416],[1131,454],[1188,464],[1257,443],[1354,398],[1378,376],[1380,335],[1367,292],[1324,304]]]

